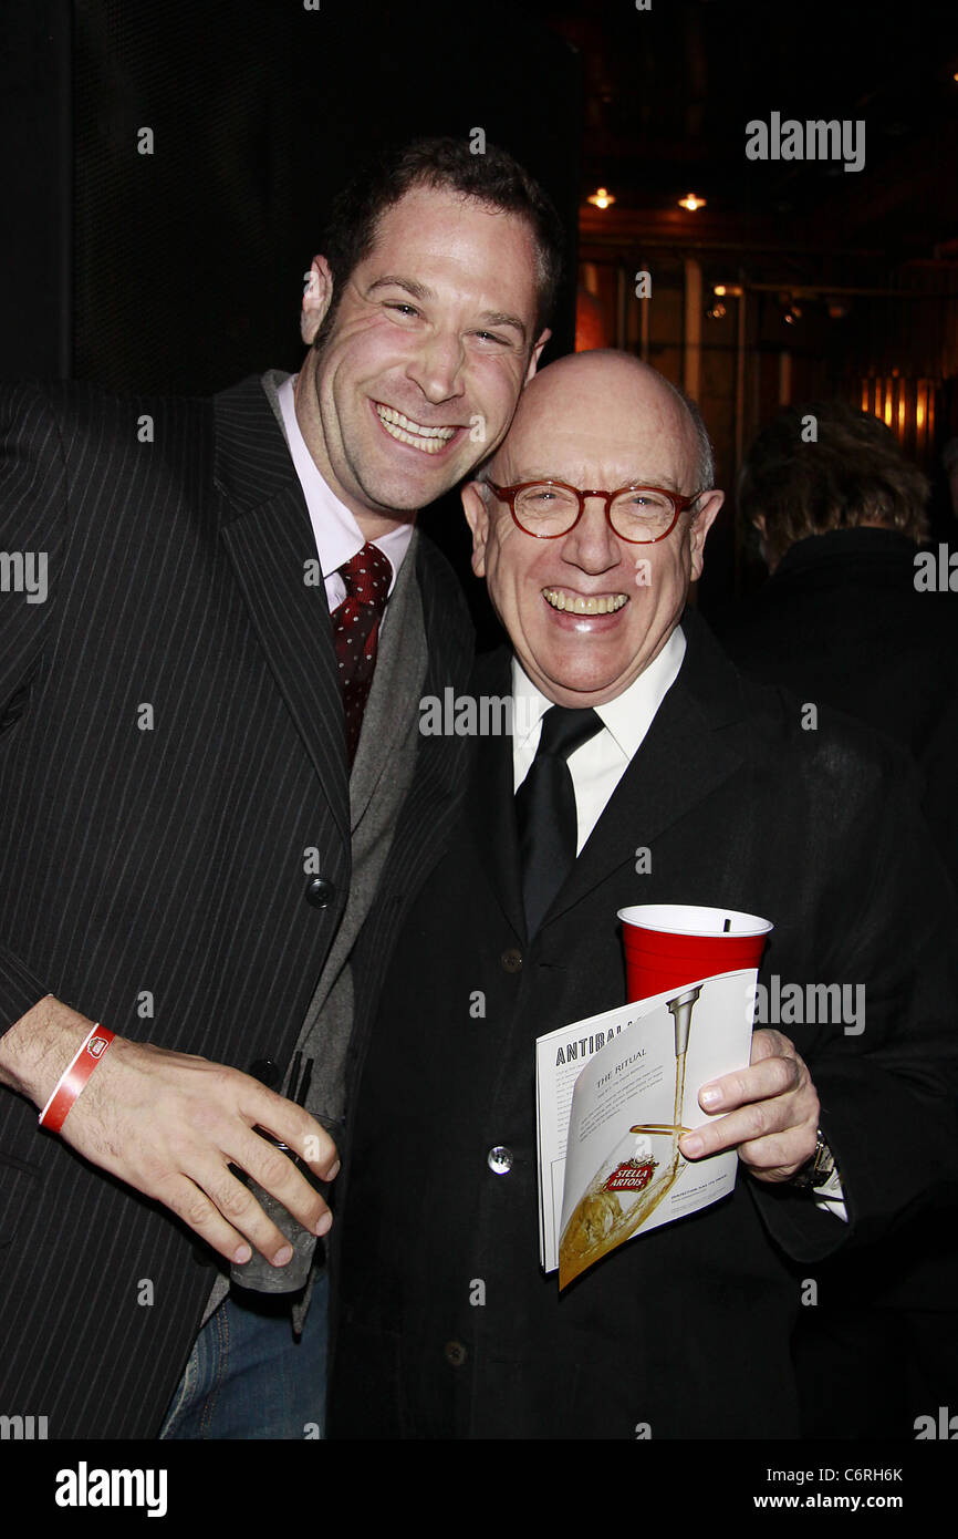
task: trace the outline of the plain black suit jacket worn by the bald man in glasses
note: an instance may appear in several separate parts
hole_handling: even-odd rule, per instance
[[[804,1279],[955,1191],[953,913],[910,765],[864,731],[803,731],[797,702],[746,683],[694,614],[683,623],[678,680],[532,942],[511,740],[477,745],[369,1039],[334,1436],[797,1436]],[[506,663],[475,689],[507,693]],[[767,916],[766,983],[866,985],[860,1036],[781,1028],[818,1087],[850,1225],[740,1171],[732,1197],[560,1297],[538,1267],[534,1039],[624,1002],[615,914],[635,902]],[[504,1176],[486,1159],[497,1145],[514,1154]]]

